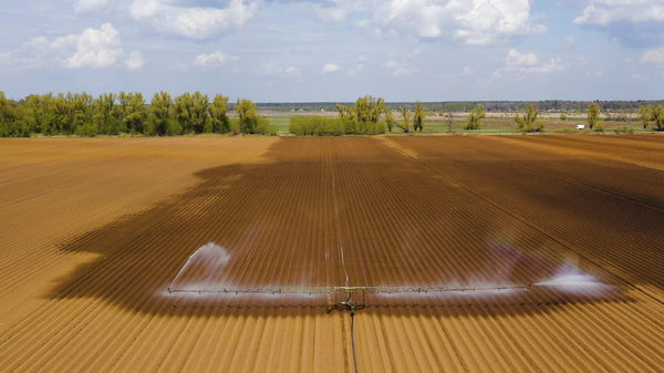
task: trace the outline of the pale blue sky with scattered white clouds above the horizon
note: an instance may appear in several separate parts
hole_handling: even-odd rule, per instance
[[[0,91],[661,100],[664,0],[1,0]],[[149,101],[149,99],[148,99]]]

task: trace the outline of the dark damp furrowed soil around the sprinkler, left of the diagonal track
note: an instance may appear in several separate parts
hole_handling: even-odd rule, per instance
[[[478,308],[491,308],[496,315],[505,305],[515,314],[548,312],[549,305],[633,301],[592,266],[561,253],[546,236],[509,221],[509,215],[374,139],[284,139],[266,158],[277,162],[199,172],[199,184],[185,193],[66,242],[62,251],[100,257],[61,279],[54,293],[101,298],[144,313],[324,311],[325,296],[169,293],[191,256],[214,242],[224,255],[206,256],[184,271],[189,283],[217,289],[347,284],[478,290],[539,283],[523,291],[372,294],[367,300],[372,308],[444,307],[474,315]],[[402,190],[409,190],[407,197]]]

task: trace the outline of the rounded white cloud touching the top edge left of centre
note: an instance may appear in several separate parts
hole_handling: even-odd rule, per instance
[[[185,8],[165,0],[134,0],[129,11],[135,20],[148,22],[162,32],[191,39],[211,39],[239,29],[253,18],[258,2],[231,0],[228,8]]]

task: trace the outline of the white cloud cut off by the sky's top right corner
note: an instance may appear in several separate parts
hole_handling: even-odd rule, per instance
[[[572,23],[608,25],[620,21],[664,21],[664,1],[591,0]]]

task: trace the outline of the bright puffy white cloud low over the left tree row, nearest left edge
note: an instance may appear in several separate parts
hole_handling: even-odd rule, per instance
[[[76,53],[62,61],[68,69],[104,69],[115,64],[122,54],[120,32],[111,23],[100,30],[86,29],[76,40]]]

